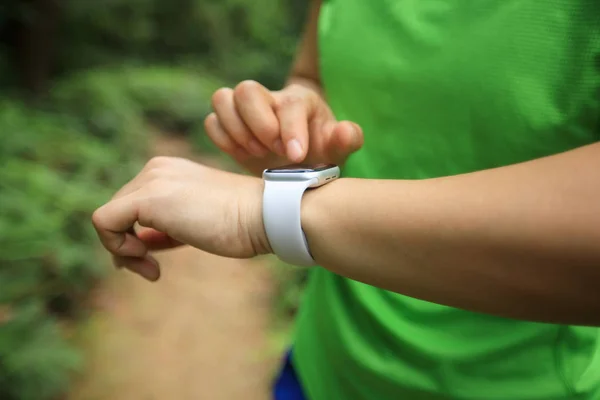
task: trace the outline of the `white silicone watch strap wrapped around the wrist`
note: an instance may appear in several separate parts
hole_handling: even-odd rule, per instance
[[[288,264],[303,267],[315,265],[300,218],[302,196],[311,183],[313,180],[266,180],[263,194],[263,221],[273,253]]]

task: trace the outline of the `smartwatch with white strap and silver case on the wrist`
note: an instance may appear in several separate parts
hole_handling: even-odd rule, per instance
[[[307,189],[339,176],[335,164],[291,164],[263,171],[263,222],[271,249],[280,260],[302,267],[315,265],[302,230],[302,196]]]

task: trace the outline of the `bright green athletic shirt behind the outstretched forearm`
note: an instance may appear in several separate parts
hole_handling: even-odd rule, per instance
[[[329,0],[319,46],[331,107],[365,132],[345,176],[459,174],[599,139],[598,0]],[[293,362],[310,400],[600,399],[599,332],[316,268]]]

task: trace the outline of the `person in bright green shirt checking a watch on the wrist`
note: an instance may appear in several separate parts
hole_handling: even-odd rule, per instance
[[[302,201],[306,398],[600,398],[599,52],[595,0],[316,1],[282,90],[215,93],[249,171],[343,164]],[[93,221],[155,280],[153,249],[271,252],[262,187],[155,159]]]

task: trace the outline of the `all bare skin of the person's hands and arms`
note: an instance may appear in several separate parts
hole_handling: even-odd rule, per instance
[[[245,82],[213,97],[207,132],[254,174],[302,160],[343,163],[362,146],[360,127],[335,120],[319,90],[318,7],[286,87]],[[476,312],[600,326],[599,171],[597,143],[452,177],[342,178],[305,194],[302,225],[317,263],[339,275]],[[271,253],[262,191],[257,177],[160,157],[92,221],[117,266],[154,281],[155,250]]]

